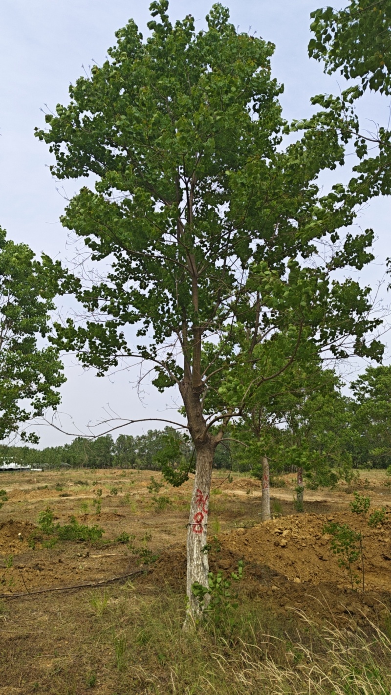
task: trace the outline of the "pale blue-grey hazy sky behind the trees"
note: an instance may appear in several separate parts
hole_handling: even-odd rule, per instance
[[[205,15],[212,0],[172,0],[171,19],[192,14],[196,26],[205,26]],[[310,97],[324,92],[338,94],[343,81],[338,75],[326,76],[322,65],[310,60],[310,12],[321,0],[230,0],[231,21],[240,31],[251,31],[276,44],[272,71],[285,85],[281,97],[283,115],[288,120],[312,113]],[[337,6],[340,6],[337,3]],[[28,243],[36,254],[71,259],[72,245],[59,217],[65,197],[72,197],[76,181],[65,181],[64,190],[49,172],[52,163],[48,147],[33,132],[44,126],[44,113],[56,104],[69,101],[69,83],[83,74],[83,66],[101,64],[108,47],[115,43],[115,31],[133,17],[140,31],[147,34],[149,0],[2,0],[0,26],[0,225],[16,242]],[[47,106],[45,106],[47,105]],[[363,126],[387,124],[389,100],[368,95],[360,104]],[[347,172],[324,180],[343,181]],[[376,233],[375,261],[360,273],[360,280],[376,287],[384,277],[385,259],[390,249],[390,202],[376,199],[360,214],[363,228]],[[387,301],[385,284],[381,296]],[[61,308],[61,307],[60,307]],[[63,307],[66,311],[67,307]],[[388,338],[385,336],[385,340]],[[389,361],[387,349],[385,361]],[[121,418],[168,418],[178,420],[178,395],[174,389],[159,394],[147,387],[140,400],[135,381],[137,370],[119,372],[97,379],[92,370],[83,372],[72,357],[65,358],[67,383],[56,425],[71,435],[88,432],[88,423],[115,412]],[[141,434],[163,427],[158,421],[128,425],[128,434]],[[71,441],[72,436],[53,427],[35,427],[40,446]]]

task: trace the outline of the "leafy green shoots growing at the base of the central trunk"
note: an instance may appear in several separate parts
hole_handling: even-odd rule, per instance
[[[231,578],[224,576],[220,570],[216,574],[208,573],[208,587],[199,582],[192,584],[195,596],[203,614],[208,614],[213,626],[224,632],[231,632],[235,626],[235,610],[238,608],[240,583],[243,580],[243,560],[238,562],[238,572],[231,572]],[[232,590],[232,582],[238,582],[238,589]],[[206,602],[206,596],[209,596]]]

